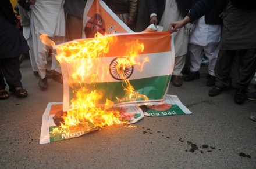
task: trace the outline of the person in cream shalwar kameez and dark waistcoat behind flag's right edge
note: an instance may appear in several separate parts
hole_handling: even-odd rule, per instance
[[[176,0],[147,0],[148,13],[150,13],[150,24],[153,23],[154,25],[157,25],[159,22],[159,25],[163,26],[163,31],[167,31],[171,22],[183,19],[183,13],[180,9],[184,9],[188,4],[190,7],[190,3],[187,3],[190,1],[183,2],[183,4],[179,3],[178,6]],[[184,28],[180,28],[180,30],[174,32],[172,36],[175,46],[175,64],[171,80],[173,86],[179,87],[182,86],[183,81],[182,69],[184,68],[186,61],[189,35],[184,33]]]

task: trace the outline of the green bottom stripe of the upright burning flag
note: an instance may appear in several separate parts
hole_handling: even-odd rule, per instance
[[[164,97],[166,89],[170,82],[170,78],[171,75],[134,79],[130,80],[130,84],[133,86],[134,90],[136,90],[140,94],[146,95],[149,100],[158,100]],[[115,104],[119,104],[120,102],[117,101],[116,97],[122,99],[125,96],[122,81],[120,81],[90,84],[82,83],[81,86],[78,83],[72,84],[72,87],[69,86],[69,98],[76,98],[76,92],[73,91],[77,91],[81,89],[81,87],[86,87],[87,89],[89,89],[89,91],[97,90],[98,93],[102,93],[103,98],[99,100],[99,104],[105,104],[106,99],[113,101]],[[139,100],[141,99],[137,99],[136,101]]]

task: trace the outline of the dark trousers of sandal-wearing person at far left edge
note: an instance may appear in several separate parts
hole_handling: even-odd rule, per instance
[[[5,89],[6,83],[10,88],[22,87],[19,56],[0,58],[0,89]]]

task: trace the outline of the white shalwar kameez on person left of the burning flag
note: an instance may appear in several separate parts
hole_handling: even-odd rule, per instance
[[[41,79],[45,78],[49,46],[41,42],[40,35],[46,34],[54,40],[56,45],[64,42],[64,2],[65,0],[37,0],[35,5],[30,5],[30,27],[31,33],[33,34],[33,50]],[[55,57],[52,57],[51,69],[61,73],[61,67]]]

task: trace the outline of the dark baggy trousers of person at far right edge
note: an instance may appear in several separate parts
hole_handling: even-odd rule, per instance
[[[215,65],[215,84],[224,88],[247,89],[255,71],[256,49],[220,50]]]

